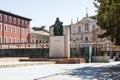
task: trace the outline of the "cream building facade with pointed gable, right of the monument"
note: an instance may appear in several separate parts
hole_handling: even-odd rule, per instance
[[[92,17],[84,17],[75,24],[71,24],[71,47],[87,47],[104,39],[97,37],[102,33],[97,21]]]

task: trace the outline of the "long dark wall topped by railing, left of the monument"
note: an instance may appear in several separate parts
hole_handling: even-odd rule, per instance
[[[48,44],[6,43],[0,44],[0,57],[42,57],[49,56]]]

